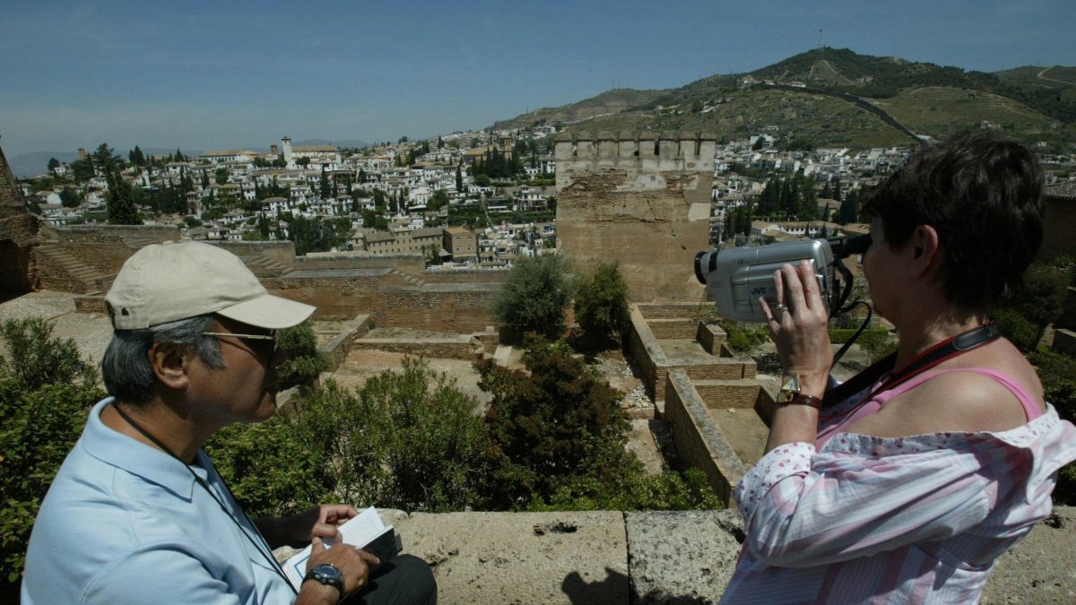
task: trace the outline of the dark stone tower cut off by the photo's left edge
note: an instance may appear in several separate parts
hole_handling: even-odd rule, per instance
[[[31,251],[39,226],[0,149],[0,293],[33,290]]]

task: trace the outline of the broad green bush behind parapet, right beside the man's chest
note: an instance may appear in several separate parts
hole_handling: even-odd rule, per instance
[[[320,502],[461,510],[475,504],[484,449],[475,408],[444,375],[408,358],[360,389],[329,380],[260,425],[221,431],[207,451],[252,517]]]

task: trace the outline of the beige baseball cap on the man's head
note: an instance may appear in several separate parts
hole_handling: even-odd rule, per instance
[[[124,263],[104,304],[116,329],[216,313],[256,327],[302,323],[314,307],[273,296],[238,256],[197,241],[147,245]]]

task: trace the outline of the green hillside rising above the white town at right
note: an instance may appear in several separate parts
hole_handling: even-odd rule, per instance
[[[745,81],[755,84],[745,87]],[[765,82],[808,88],[775,88]],[[1076,68],[1027,67],[993,74],[823,48],[750,73],[713,75],[675,89],[633,90],[634,102],[626,105],[633,97],[611,97],[625,93],[613,90],[497,126],[543,118],[568,130],[688,129],[721,138],[776,126],[789,146],[907,144],[906,133],[866,111],[877,108],[918,135],[937,138],[990,127],[1057,146],[1076,140],[1076,84],[1070,82],[1076,83]],[[834,96],[840,94],[874,107],[863,109]],[[613,98],[618,102],[609,102]]]

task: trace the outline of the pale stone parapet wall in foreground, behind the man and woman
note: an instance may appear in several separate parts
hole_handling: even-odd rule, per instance
[[[738,510],[381,511],[429,562],[441,603],[717,603],[744,539]],[[1076,600],[1076,510],[1054,507],[1002,554],[981,603]]]

